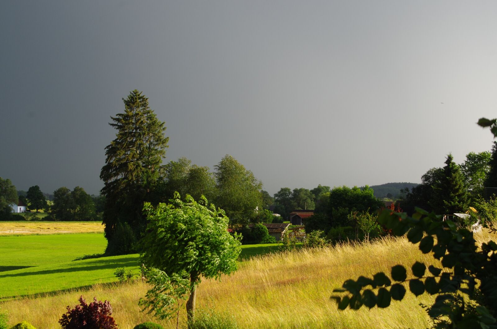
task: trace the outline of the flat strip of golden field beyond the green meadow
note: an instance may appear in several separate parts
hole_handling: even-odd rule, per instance
[[[101,222],[0,222],[1,235],[103,233]]]

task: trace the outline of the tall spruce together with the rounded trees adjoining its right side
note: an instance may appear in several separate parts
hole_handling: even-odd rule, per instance
[[[141,91],[131,91],[123,102],[124,112],[111,117],[116,138],[105,148],[100,171],[107,253],[133,250],[146,228],[144,203],[167,202],[176,191],[182,198],[206,196],[225,210],[230,225],[264,221],[262,182],[250,170],[230,155],[214,166],[214,172],[186,158],[163,165],[168,147],[165,122],[157,118]]]

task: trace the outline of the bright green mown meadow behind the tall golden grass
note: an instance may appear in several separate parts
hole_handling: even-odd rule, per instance
[[[138,254],[74,260],[103,253],[106,244],[101,233],[0,236],[0,299],[115,282],[118,267],[139,274]],[[242,246],[240,260],[277,248]]]

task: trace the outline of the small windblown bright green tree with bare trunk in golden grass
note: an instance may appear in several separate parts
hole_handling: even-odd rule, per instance
[[[228,232],[229,219],[224,211],[213,204],[208,208],[205,197],[197,203],[187,195],[183,202],[175,193],[169,202],[156,208],[148,202],[144,206],[148,224],[140,242],[140,260],[147,268],[154,268],[149,276],[155,286],[140,305],[158,318],[166,319],[185,296],[191,320],[201,277],[218,279],[221,274],[234,272],[240,241]],[[185,293],[185,284],[189,294]]]

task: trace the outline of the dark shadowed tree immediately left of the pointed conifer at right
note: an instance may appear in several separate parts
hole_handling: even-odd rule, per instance
[[[406,193],[406,199],[401,201],[402,208],[408,213],[414,213],[414,207],[432,209],[431,202],[434,198],[433,188],[439,184],[443,174],[442,168],[431,168],[421,176],[421,184],[412,188],[401,190]]]

